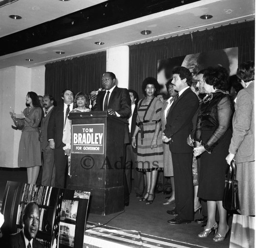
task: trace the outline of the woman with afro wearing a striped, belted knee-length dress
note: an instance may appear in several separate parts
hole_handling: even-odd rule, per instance
[[[132,146],[137,144],[137,169],[146,173],[146,193],[140,201],[152,204],[159,170],[163,170],[163,143],[161,140],[160,112],[163,103],[155,97],[159,84],[155,78],[148,77],[142,83],[145,98],[138,103],[137,126],[132,137]]]

